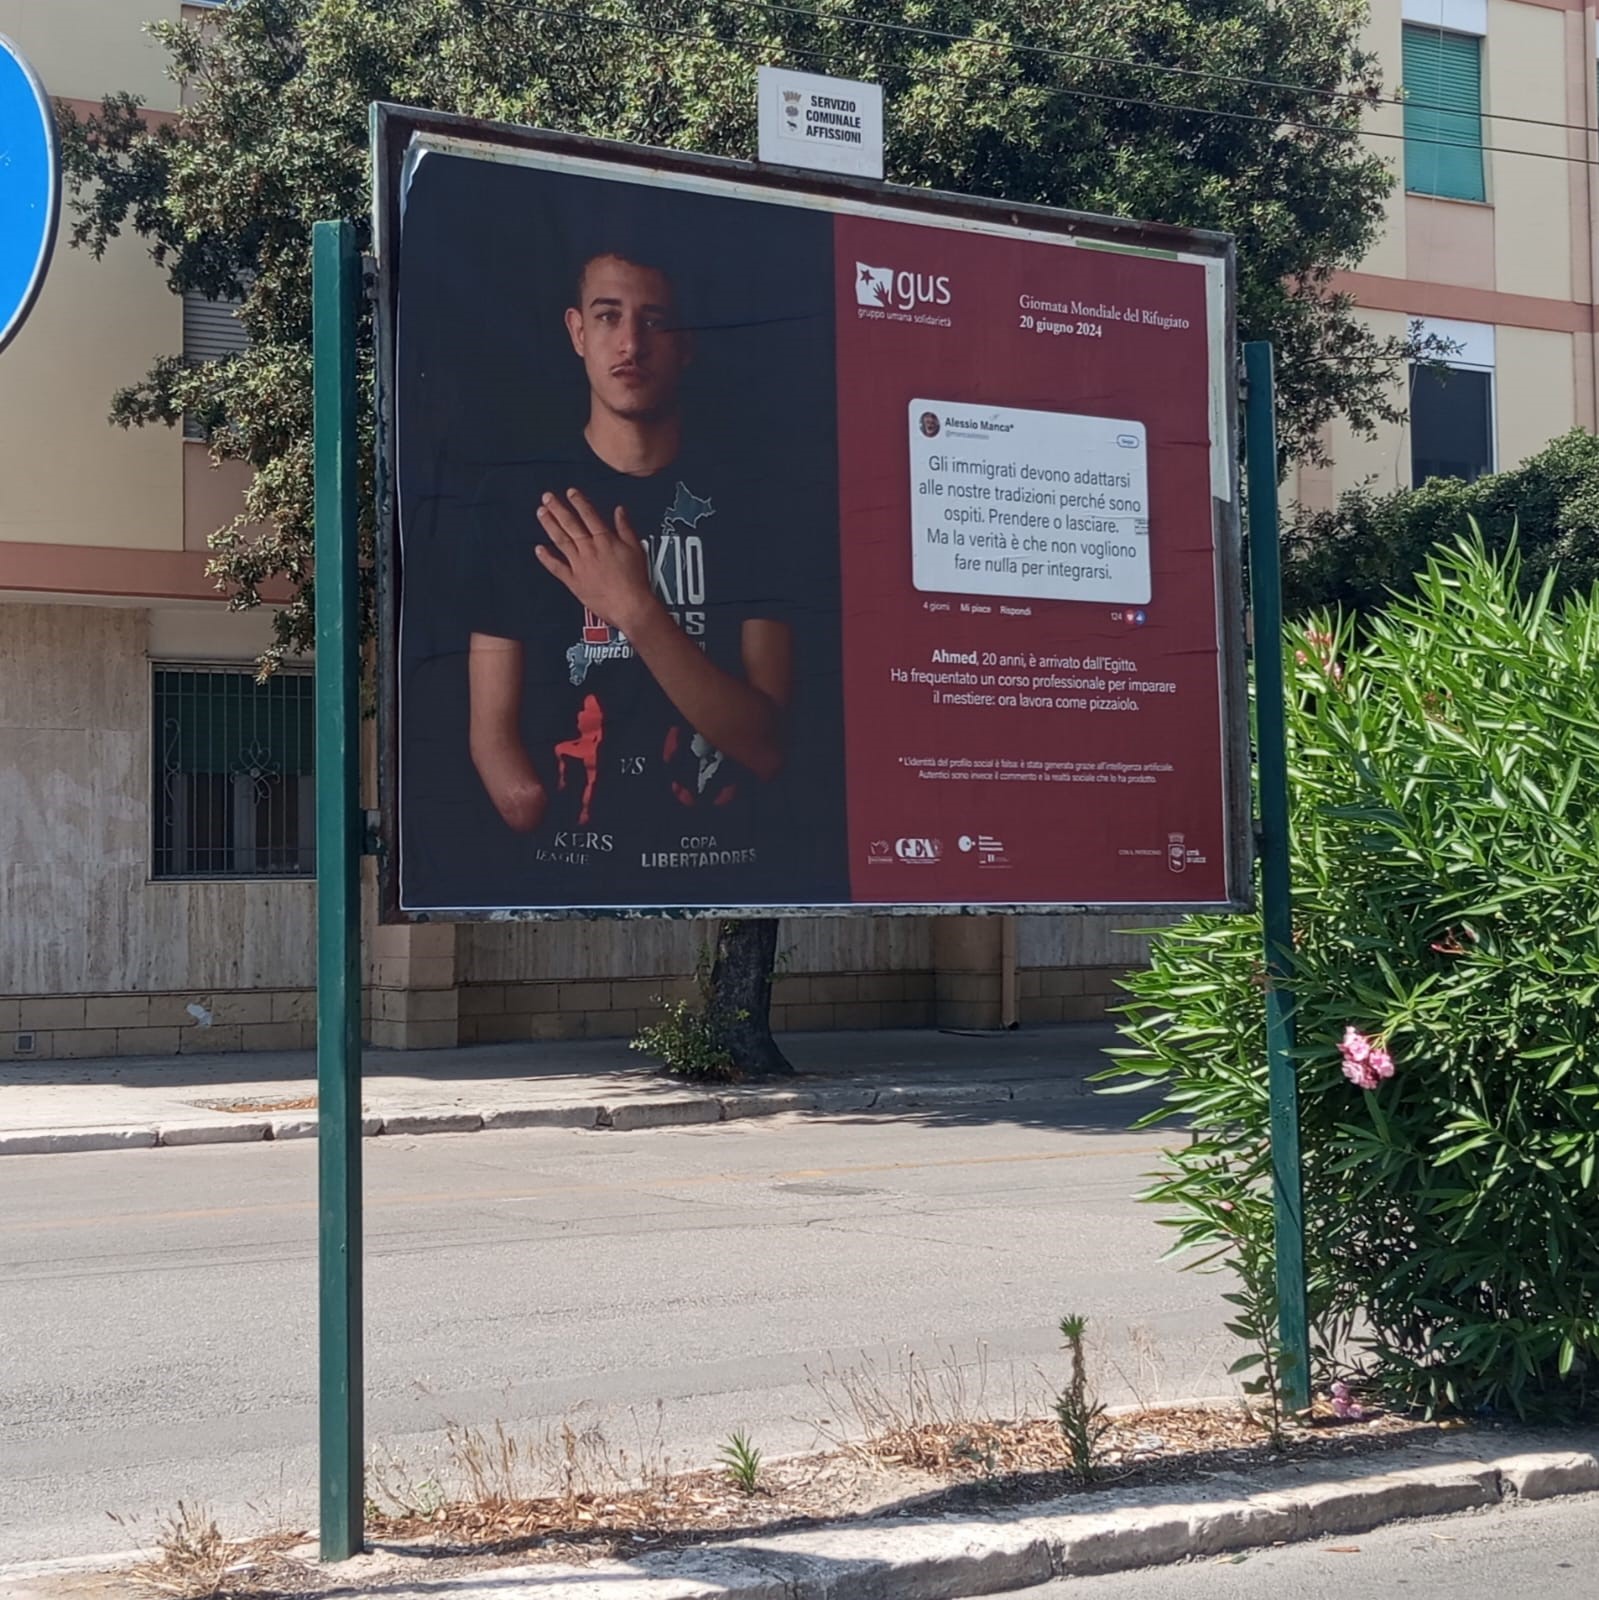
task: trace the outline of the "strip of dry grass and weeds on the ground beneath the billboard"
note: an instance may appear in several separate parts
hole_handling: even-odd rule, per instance
[[[1063,1392],[1045,1373],[1018,1379],[1008,1368],[1000,1379],[980,1349],[972,1362],[948,1352],[927,1365],[908,1352],[808,1374],[818,1414],[807,1421],[823,1448],[775,1461],[735,1434],[720,1467],[677,1464],[663,1445],[659,1405],[645,1418],[627,1413],[631,1446],[607,1432],[615,1418],[573,1418],[533,1432],[451,1424],[427,1467],[379,1450],[367,1469],[367,1533],[376,1554],[362,1557],[360,1592],[507,1563],[626,1558],[824,1522],[1175,1485],[1381,1451],[1437,1432],[1381,1413],[1341,1421],[1330,1411],[1274,1430],[1244,1402],[1112,1413],[1079,1371],[1080,1326],[1077,1334],[1076,1346],[1068,1339],[1074,1366],[1064,1394],[1082,1390],[1071,1414],[1092,1411],[1088,1434],[1072,1435],[1048,1416],[1060,1411]],[[1136,1350],[1135,1360],[1159,1379]],[[134,1579],[160,1600],[269,1600],[328,1594],[352,1581],[349,1568],[317,1568],[299,1541],[296,1533],[229,1541],[206,1514],[179,1507]]]

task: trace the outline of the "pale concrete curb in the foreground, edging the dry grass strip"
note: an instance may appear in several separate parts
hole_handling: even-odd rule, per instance
[[[1226,1477],[1226,1475],[1218,1475]],[[1216,1478],[1212,1478],[1216,1482]],[[1325,1534],[1370,1533],[1516,1499],[1599,1490],[1586,1451],[1450,1461],[1369,1478],[1288,1483],[1236,1499],[1173,1502],[1128,1490],[1109,1510],[1048,1501],[992,1517],[882,1518],[656,1550],[592,1566],[501,1568],[448,1584],[450,1600],[956,1600],[1226,1555]],[[437,1595],[440,1586],[431,1586]],[[400,1584],[386,1600],[419,1600]]]

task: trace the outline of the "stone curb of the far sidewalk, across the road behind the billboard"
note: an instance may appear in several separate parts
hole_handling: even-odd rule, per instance
[[[1037,1078],[1021,1083],[885,1083],[844,1085],[839,1088],[754,1088],[723,1090],[626,1099],[615,1102],[568,1101],[533,1106],[506,1106],[491,1110],[421,1109],[367,1112],[362,1134],[416,1136],[424,1133],[477,1133],[509,1128],[579,1128],[637,1133],[647,1128],[687,1128],[714,1122],[743,1122],[749,1117],[778,1117],[784,1112],[840,1115],[908,1110],[949,1110],[960,1106],[1040,1104],[1085,1099],[1085,1085],[1074,1080]],[[246,1117],[224,1112],[211,1120],[182,1120],[158,1126],[120,1128],[19,1128],[0,1130],[0,1155],[58,1155],[80,1150],[131,1150],[186,1144],[259,1144],[279,1139],[314,1139],[315,1112],[285,1112]]]

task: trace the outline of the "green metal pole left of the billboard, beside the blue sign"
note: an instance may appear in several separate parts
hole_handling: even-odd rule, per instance
[[[317,1254],[322,1560],[362,1549],[360,613],[349,222],[311,235],[317,582]]]

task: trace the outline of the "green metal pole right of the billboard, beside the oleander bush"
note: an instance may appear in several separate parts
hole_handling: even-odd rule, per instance
[[[1255,624],[1255,752],[1260,763],[1260,886],[1266,934],[1266,1075],[1276,1219],[1282,1403],[1311,1403],[1304,1294],[1304,1176],[1293,1066],[1293,901],[1288,877],[1288,750],[1282,690],[1282,558],[1277,549],[1277,421],[1269,344],[1244,346],[1248,573]]]

